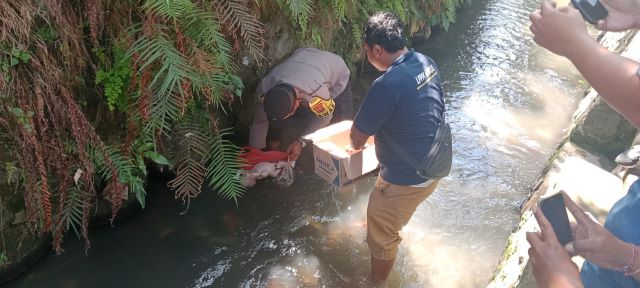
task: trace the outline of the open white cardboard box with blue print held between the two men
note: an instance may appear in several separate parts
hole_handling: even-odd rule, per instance
[[[352,121],[342,121],[304,137],[313,141],[316,174],[339,188],[378,167],[373,137],[362,151],[347,155],[351,124]]]

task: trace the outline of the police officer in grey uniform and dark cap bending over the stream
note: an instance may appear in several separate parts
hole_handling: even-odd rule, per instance
[[[336,54],[301,48],[274,67],[258,84],[260,97],[249,143],[285,150],[296,160],[305,146],[301,137],[353,118],[349,68]]]

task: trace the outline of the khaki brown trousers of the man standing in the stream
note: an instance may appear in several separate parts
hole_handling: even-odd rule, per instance
[[[367,244],[371,257],[381,260],[396,257],[402,241],[398,232],[437,186],[438,181],[427,187],[400,186],[378,176],[367,207]]]

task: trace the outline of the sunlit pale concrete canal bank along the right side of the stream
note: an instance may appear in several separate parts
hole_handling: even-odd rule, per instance
[[[625,57],[640,59],[640,34],[635,30],[604,33],[600,42]],[[585,211],[604,223],[611,206],[638,179],[635,172],[624,171],[614,162],[617,154],[638,144],[636,135],[637,129],[609,107],[595,90],[586,92],[574,114],[571,129],[523,202],[520,222],[509,236],[488,287],[537,287],[528,262],[530,246],[525,235],[538,229],[531,209],[540,197],[564,190]],[[579,267],[583,262],[580,257],[573,260]]]

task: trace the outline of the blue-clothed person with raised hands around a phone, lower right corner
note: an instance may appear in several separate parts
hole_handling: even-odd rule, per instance
[[[634,187],[635,186],[635,187]],[[540,232],[528,232],[527,241],[531,244],[529,257],[533,273],[540,287],[640,287],[640,247],[625,242],[637,239],[638,232],[633,221],[639,216],[637,207],[629,209],[625,202],[638,201],[640,182],[636,181],[629,194],[612,208],[607,223],[603,227],[595,219],[580,208],[567,194],[561,192],[569,212],[576,219],[572,227],[575,240],[563,247],[551,223],[536,209],[534,215],[540,226]],[[619,211],[625,219],[616,220]],[[626,214],[636,215],[626,215]],[[631,220],[631,221],[629,221]],[[628,226],[631,225],[631,226]],[[625,229],[626,227],[626,229]],[[610,231],[611,230],[611,231]],[[619,230],[628,230],[621,232]],[[622,239],[616,235],[622,235]],[[624,239],[624,241],[623,241]],[[634,256],[635,254],[635,256]],[[578,267],[571,261],[571,256],[580,255],[588,262],[578,274]]]

